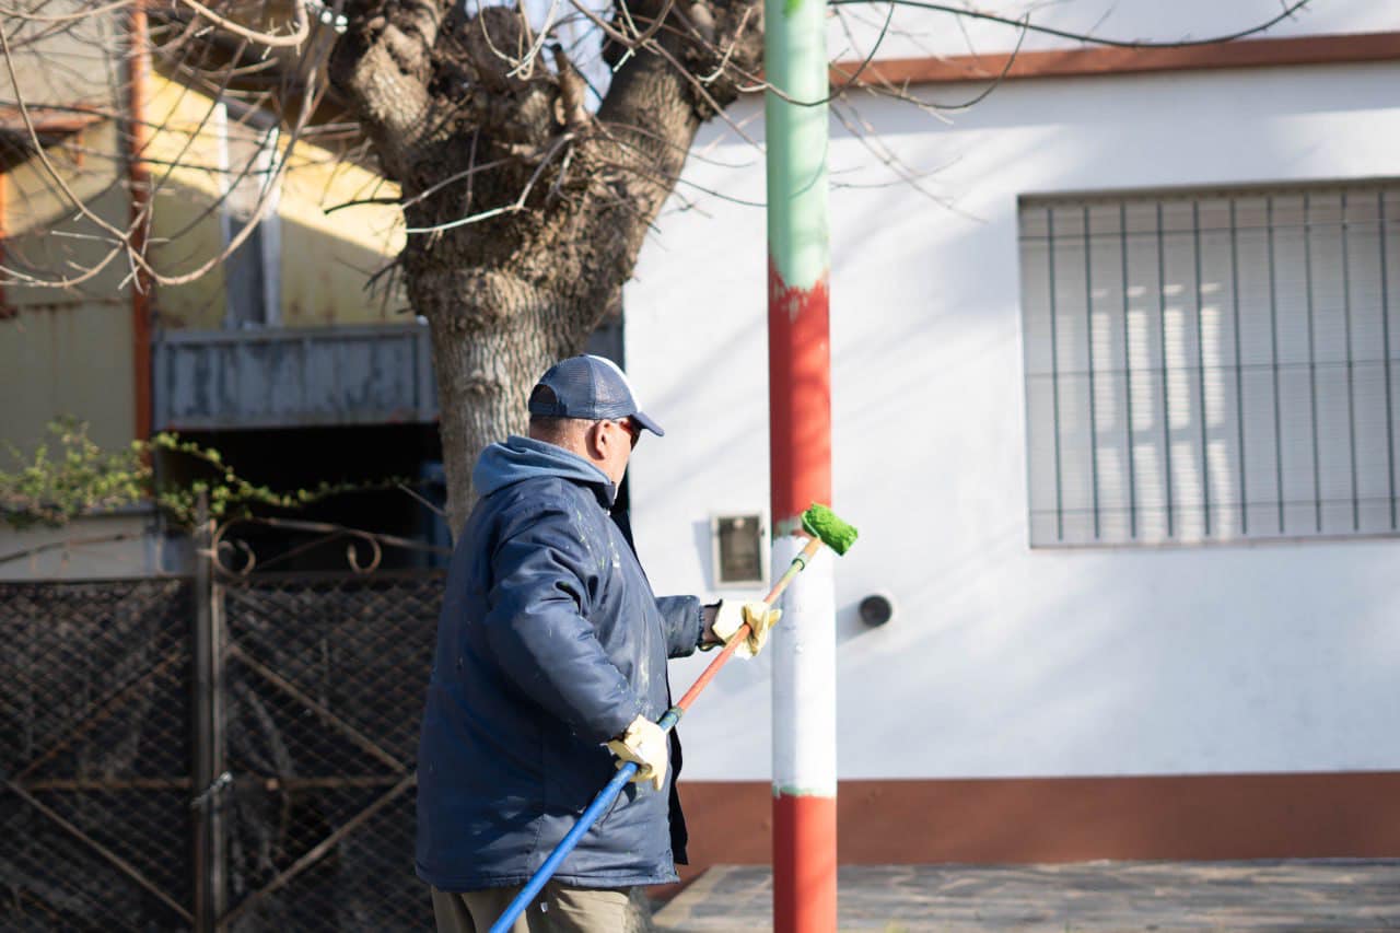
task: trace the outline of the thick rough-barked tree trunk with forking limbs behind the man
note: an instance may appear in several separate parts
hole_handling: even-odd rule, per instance
[[[561,46],[553,70],[501,52],[532,43],[518,10],[447,8],[349,6],[330,77],[399,182],[409,227],[431,230],[410,234],[400,262],[431,326],[456,535],[477,455],[525,430],[535,381],[616,304],[700,123],[757,70],[763,29],[757,0],[686,13],[633,0],[609,27],[617,70],[589,115]],[[634,21],[651,25],[624,49],[619,28],[636,27],[617,24]],[[482,212],[496,213],[461,223]]]

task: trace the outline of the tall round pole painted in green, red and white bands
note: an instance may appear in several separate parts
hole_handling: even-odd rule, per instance
[[[764,0],[773,566],[832,502],[825,0]],[[792,101],[797,101],[794,104]],[[773,920],[836,930],[836,609],[832,555],[788,588],[773,633]]]

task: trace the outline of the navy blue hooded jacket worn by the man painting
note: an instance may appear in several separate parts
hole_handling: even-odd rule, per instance
[[[529,878],[612,778],[603,742],[665,713],[666,658],[701,630],[697,598],[651,593],[588,461],[511,437],[472,482],[482,497],[448,570],[419,744],[417,871],[444,891]],[[675,881],[675,772],[659,792],[627,785],[554,877]]]

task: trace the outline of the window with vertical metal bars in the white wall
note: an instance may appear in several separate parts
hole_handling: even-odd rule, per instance
[[[1400,182],[1019,226],[1032,546],[1397,531]]]

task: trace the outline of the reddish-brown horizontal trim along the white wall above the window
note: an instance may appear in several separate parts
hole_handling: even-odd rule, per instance
[[[1002,53],[886,59],[872,62],[857,83],[902,85],[987,81],[997,78],[1002,71],[1005,71],[1004,80],[1021,80],[1394,60],[1400,60],[1400,32],[1361,32],[1245,39],[1168,49],[1086,46],[1021,52],[1015,57]],[[832,66],[832,83],[846,83],[858,67],[858,62],[839,62]]]

